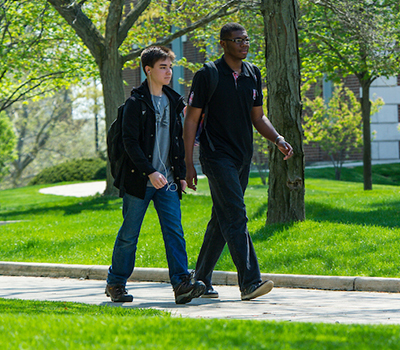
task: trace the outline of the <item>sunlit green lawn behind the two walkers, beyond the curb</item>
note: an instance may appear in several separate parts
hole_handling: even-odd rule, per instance
[[[391,166],[392,171],[383,167],[396,179],[400,168]],[[364,191],[361,182],[319,179],[310,171],[307,176],[306,220],[276,225],[265,225],[267,187],[257,177],[250,179],[245,198],[248,227],[261,271],[399,277],[400,187],[374,184],[372,191]],[[44,195],[41,187],[0,191],[0,220],[23,220],[0,226],[0,260],[109,265],[122,222],[122,200]],[[196,193],[188,190],[182,201],[190,268],[195,267],[212,206],[207,180],[200,180],[198,187]],[[136,266],[167,267],[152,205],[139,238]],[[227,249],[216,269],[235,271]]]

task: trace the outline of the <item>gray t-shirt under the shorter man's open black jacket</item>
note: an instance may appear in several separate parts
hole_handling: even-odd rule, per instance
[[[169,100],[165,94],[162,96],[151,96],[156,111],[156,139],[153,150],[153,167],[163,174],[168,182],[174,180],[169,161],[170,132],[169,132]],[[148,186],[152,186],[148,182]]]

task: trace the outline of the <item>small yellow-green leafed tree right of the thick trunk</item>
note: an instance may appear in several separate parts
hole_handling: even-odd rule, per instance
[[[303,99],[304,143],[316,142],[332,160],[336,180],[340,180],[344,161],[351,151],[362,146],[361,106],[354,93],[343,84],[336,84],[332,98],[326,103],[321,97]],[[372,103],[376,113],[383,100]]]

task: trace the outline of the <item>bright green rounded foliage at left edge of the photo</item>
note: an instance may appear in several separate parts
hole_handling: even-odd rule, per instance
[[[7,163],[15,157],[16,137],[10,119],[0,112],[0,180],[7,172]]]

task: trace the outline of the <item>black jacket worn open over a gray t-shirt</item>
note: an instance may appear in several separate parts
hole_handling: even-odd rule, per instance
[[[182,119],[185,103],[183,97],[168,86],[163,87],[170,104],[170,150],[169,159],[178,186],[179,198],[182,198],[180,180],[186,176],[185,149],[182,139]],[[146,104],[146,115],[142,116],[142,102]],[[144,123],[143,123],[144,121]],[[124,165],[117,174],[114,186],[124,193],[144,199],[148,175],[157,171],[152,165],[155,143],[156,120],[150,90],[145,80],[138,88],[132,89],[131,97],[126,101],[122,117],[122,139],[125,151]]]

